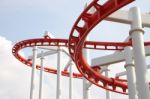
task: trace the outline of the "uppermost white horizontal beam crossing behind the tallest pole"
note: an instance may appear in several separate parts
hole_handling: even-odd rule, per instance
[[[123,24],[131,24],[131,19],[128,18],[129,12],[119,10],[108,16],[105,20]],[[142,13],[142,26],[150,28],[150,14]]]

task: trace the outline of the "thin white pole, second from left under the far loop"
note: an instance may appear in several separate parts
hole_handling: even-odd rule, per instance
[[[39,99],[42,99],[42,80],[43,80],[43,70],[44,70],[44,67],[43,67],[43,60],[44,60],[43,51],[41,53],[42,53],[42,56],[40,58],[41,59],[41,69],[40,69]]]

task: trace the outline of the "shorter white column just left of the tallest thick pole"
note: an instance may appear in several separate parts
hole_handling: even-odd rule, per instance
[[[128,81],[128,93],[129,99],[138,99],[136,90],[136,78],[135,78],[135,66],[132,59],[132,49],[131,47],[125,47],[125,69],[127,71],[127,81]]]

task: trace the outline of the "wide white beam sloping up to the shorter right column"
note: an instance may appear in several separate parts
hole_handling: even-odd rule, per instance
[[[150,46],[146,46],[145,51],[146,51],[146,56],[150,56]],[[92,66],[105,66],[113,63],[122,62],[122,61],[125,61],[124,52],[116,52],[111,55],[92,59]]]

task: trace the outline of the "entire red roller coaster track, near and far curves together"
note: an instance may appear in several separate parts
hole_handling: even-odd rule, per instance
[[[134,0],[108,0],[103,5],[98,3],[98,0],[93,0],[91,4],[81,13],[77,21],[75,22],[69,40],[67,39],[52,39],[52,38],[37,38],[23,40],[14,45],[12,48],[13,55],[22,63],[27,66],[32,66],[32,62],[19,54],[19,51],[23,48],[33,46],[62,46],[69,47],[69,52],[72,60],[75,62],[79,73],[73,73],[73,77],[81,78],[85,77],[91,83],[121,94],[127,94],[127,81],[119,78],[107,78],[100,74],[97,66],[91,68],[86,62],[86,59],[82,55],[82,49],[94,49],[94,50],[123,50],[126,46],[132,46],[131,42],[95,42],[85,41],[89,32],[104,18],[109,16],[119,8],[129,4]],[[88,11],[94,7],[96,10],[94,13],[88,13]],[[80,21],[84,21],[84,26],[80,27]],[[145,42],[145,46],[149,46],[150,42]],[[41,69],[39,65],[37,69]],[[45,72],[57,74],[57,70],[53,68],[44,67]],[[69,76],[68,71],[62,71],[63,76]],[[120,89],[121,90],[120,90]]]

